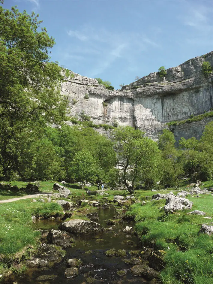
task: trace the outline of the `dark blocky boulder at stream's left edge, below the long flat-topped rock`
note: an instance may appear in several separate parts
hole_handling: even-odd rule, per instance
[[[63,248],[73,247],[73,236],[66,231],[50,230],[47,235],[48,243],[54,243]]]

